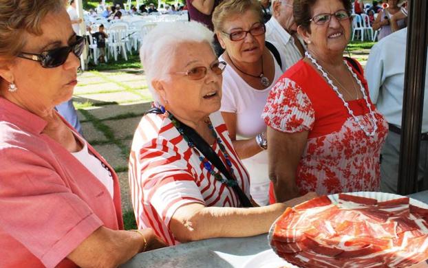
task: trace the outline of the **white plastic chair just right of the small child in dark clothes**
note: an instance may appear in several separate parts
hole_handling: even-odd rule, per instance
[[[114,23],[109,27],[109,53],[114,55],[114,60],[118,60],[118,52],[122,52],[125,60],[128,60],[126,42],[128,39],[127,23]]]

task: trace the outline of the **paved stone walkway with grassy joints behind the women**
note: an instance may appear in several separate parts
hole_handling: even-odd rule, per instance
[[[369,49],[354,52],[365,66]],[[150,107],[151,95],[142,69],[85,71],[78,76],[74,104],[87,141],[118,173],[122,210],[132,210],[128,186],[129,149],[142,113]]]

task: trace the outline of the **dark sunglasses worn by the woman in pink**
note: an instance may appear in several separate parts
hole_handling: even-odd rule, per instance
[[[58,47],[41,52],[41,54],[32,54],[21,52],[19,58],[27,60],[38,61],[43,68],[54,68],[65,63],[70,52],[73,52],[76,57],[80,57],[83,48],[85,47],[85,38],[83,36],[76,36],[76,42],[68,47]]]

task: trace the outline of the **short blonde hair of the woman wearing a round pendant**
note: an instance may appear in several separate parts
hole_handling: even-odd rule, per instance
[[[259,20],[263,22],[263,11],[261,3],[257,0],[226,0],[217,5],[213,12],[213,25],[215,32],[223,30],[224,21],[232,16],[244,14],[248,10],[253,10],[259,15]]]

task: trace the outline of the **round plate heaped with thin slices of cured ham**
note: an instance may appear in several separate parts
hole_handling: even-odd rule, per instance
[[[428,205],[381,192],[321,196],[287,208],[268,241],[297,267],[409,267],[428,259]]]

